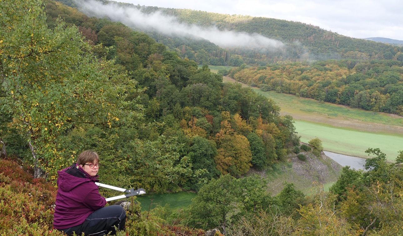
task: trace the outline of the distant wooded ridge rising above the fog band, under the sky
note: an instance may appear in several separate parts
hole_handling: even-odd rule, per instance
[[[143,8],[150,11],[150,8]],[[402,52],[402,48],[398,46],[346,37],[326,31],[318,26],[300,22],[217,14],[188,9],[153,9],[160,9],[166,14],[177,16],[186,23],[205,27],[216,25],[221,30],[259,33],[286,43],[286,47],[282,52],[266,52],[263,55],[260,55],[262,53],[259,50],[254,52],[249,52],[250,50],[242,51],[241,49],[232,51],[241,53],[240,55],[247,64],[257,62],[258,65],[264,65],[267,62],[276,62],[278,60],[393,59],[396,53]],[[260,63],[263,62],[264,55],[270,58],[271,61],[266,61],[264,64]]]

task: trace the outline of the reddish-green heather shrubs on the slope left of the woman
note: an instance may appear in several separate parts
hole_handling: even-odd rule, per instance
[[[1,160],[0,232],[3,235],[57,236],[53,230],[56,188],[9,160]]]

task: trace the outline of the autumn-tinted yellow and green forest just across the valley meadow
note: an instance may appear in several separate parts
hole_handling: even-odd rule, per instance
[[[399,60],[281,62],[236,68],[229,75],[266,91],[403,116],[403,62]]]

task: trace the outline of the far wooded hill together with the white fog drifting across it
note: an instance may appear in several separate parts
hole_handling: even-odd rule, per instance
[[[72,2],[64,2],[75,5]],[[116,18],[116,21],[122,21],[133,29],[143,31],[158,42],[164,43],[171,50],[177,51],[181,58],[195,60],[198,64],[240,66],[245,62],[249,65],[264,66],[285,60],[292,62],[328,59],[392,60],[399,56],[397,53],[403,52],[400,46],[346,37],[300,22],[189,9],[135,6],[113,1],[103,3],[93,1],[87,6],[88,2],[90,1],[80,4],[85,12],[107,16],[110,19]],[[112,11],[106,10],[105,4],[110,4],[109,8],[114,7],[119,12],[133,9],[136,14],[142,15],[142,20],[121,17],[125,14],[116,16]],[[155,19],[156,16],[158,21]],[[145,22],[147,27],[144,26]],[[167,27],[159,29],[158,23],[153,22],[170,22],[172,30],[166,32]],[[194,31],[194,28],[197,28],[197,31]],[[198,31],[205,31],[206,36],[195,37]],[[248,40],[237,38],[239,34]],[[220,35],[218,39],[224,39],[222,43],[233,42],[233,44],[221,44],[220,41],[215,41],[216,39],[208,39],[208,35]],[[267,43],[259,44],[258,47],[253,46],[256,41],[260,41],[258,38],[264,38],[263,41]],[[246,45],[240,44],[248,41]],[[241,56],[242,63],[230,61],[232,55]]]

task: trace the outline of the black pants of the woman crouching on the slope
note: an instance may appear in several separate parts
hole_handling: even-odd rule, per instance
[[[68,235],[73,235],[73,232],[75,232],[77,236],[81,236],[82,233],[86,236],[101,236],[109,232],[113,235],[116,234],[114,226],[116,226],[118,230],[123,230],[125,223],[126,212],[123,207],[111,205],[94,211],[85,219],[83,224],[62,231]]]

